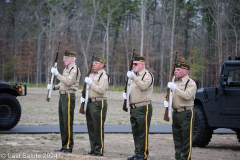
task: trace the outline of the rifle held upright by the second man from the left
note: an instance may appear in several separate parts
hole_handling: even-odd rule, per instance
[[[87,77],[89,77],[91,70],[92,70],[94,55],[95,55],[95,53],[93,52],[92,61],[88,67]],[[85,111],[86,111],[86,107],[87,107],[87,103],[88,103],[88,91],[89,91],[89,85],[87,85],[86,82],[84,82],[83,90],[82,90],[82,97],[85,99],[85,101],[82,102],[81,106],[80,106],[79,113],[81,113],[81,114],[85,114]]]

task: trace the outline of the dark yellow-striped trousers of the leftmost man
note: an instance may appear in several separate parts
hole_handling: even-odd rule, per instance
[[[58,112],[63,149],[72,149],[75,93],[60,94]]]

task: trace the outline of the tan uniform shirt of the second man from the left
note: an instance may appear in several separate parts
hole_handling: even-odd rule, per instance
[[[92,83],[89,87],[88,98],[105,97],[108,90],[108,75],[106,71],[101,69],[96,73],[92,73],[89,77],[92,79]]]

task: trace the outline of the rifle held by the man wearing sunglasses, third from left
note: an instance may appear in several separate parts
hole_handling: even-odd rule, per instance
[[[133,54],[132,54],[132,59],[130,61],[129,71],[131,71],[132,67],[133,67],[134,55],[135,55],[135,48],[133,49]],[[127,78],[125,88],[124,88],[124,91],[127,94],[127,99],[124,99],[124,102],[123,102],[123,110],[125,112],[128,111],[128,105],[129,105],[129,85],[130,85],[130,81],[131,81],[131,79]]]

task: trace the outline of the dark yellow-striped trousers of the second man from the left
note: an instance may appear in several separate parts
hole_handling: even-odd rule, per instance
[[[107,115],[107,100],[89,102],[86,110],[88,136],[91,152],[103,154],[104,122]]]

